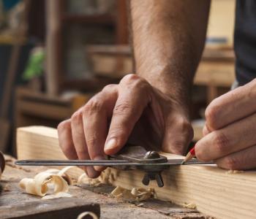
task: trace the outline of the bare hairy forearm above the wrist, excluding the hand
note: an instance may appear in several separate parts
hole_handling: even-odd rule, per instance
[[[210,1],[131,0],[129,4],[135,72],[163,93],[189,102]]]

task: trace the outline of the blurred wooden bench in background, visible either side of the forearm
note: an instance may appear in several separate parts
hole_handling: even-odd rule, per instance
[[[121,79],[132,72],[132,57],[127,45],[91,45],[94,74]],[[235,80],[235,56],[231,48],[206,47],[195,74],[195,85],[207,87],[207,101],[216,98],[219,88],[230,88]]]

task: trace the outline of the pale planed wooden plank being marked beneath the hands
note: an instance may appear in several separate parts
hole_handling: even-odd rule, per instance
[[[18,158],[65,158],[59,149],[56,129],[18,128]],[[167,158],[177,157],[162,153]],[[73,174],[80,174],[73,172]],[[110,169],[108,182],[125,188],[143,187],[143,172]],[[194,203],[197,210],[216,218],[253,218],[256,215],[256,172],[228,174],[215,165],[172,166],[162,173],[163,188],[151,183],[157,198],[176,204]]]

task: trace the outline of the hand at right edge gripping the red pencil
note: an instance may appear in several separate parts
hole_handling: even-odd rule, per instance
[[[224,169],[256,168],[256,79],[208,105],[203,136],[195,145],[199,160]]]

